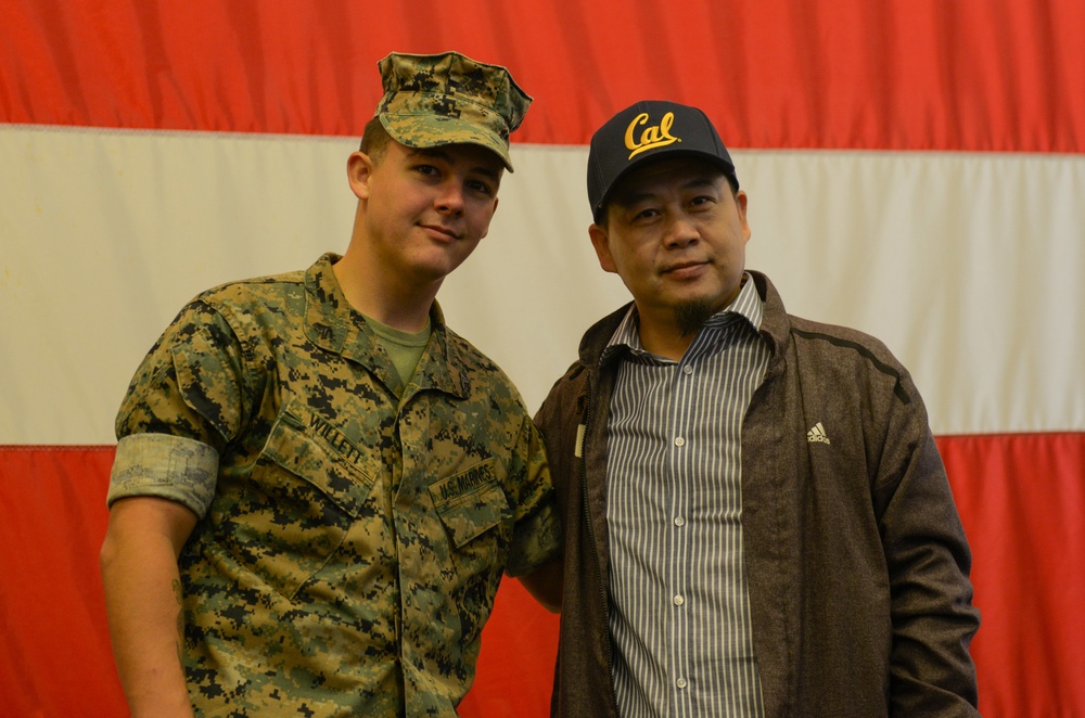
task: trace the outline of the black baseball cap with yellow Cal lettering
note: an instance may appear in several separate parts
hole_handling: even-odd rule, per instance
[[[599,221],[608,195],[622,177],[662,157],[701,157],[735,180],[735,163],[707,115],[688,105],[643,100],[611,117],[591,136],[588,151],[588,202]]]

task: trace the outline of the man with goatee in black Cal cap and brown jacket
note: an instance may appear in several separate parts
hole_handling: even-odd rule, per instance
[[[978,715],[968,543],[908,372],[745,268],[746,194],[700,110],[617,113],[587,180],[633,302],[536,416],[556,715]]]

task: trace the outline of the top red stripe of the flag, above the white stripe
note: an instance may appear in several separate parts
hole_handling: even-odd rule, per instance
[[[1078,0],[557,4],[9,0],[0,121],[353,136],[380,57],[458,49],[537,98],[520,142],[667,98],[736,148],[1085,149]]]

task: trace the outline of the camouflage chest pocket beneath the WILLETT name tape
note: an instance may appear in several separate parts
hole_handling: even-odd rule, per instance
[[[373,485],[360,451],[304,415],[288,409],[276,421],[221,526],[238,561],[286,597],[333,559]]]

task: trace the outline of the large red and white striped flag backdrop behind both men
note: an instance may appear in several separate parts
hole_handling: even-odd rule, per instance
[[[627,300],[587,236],[591,132],[641,99],[702,107],[749,266],[923,394],[981,710],[1085,716],[1080,0],[0,0],[0,714],[127,715],[98,549],[128,381],[201,290],[345,249],[376,62],[445,50],[535,97],[438,294],[528,408]],[[507,581],[462,715],[546,715],[557,621]]]

